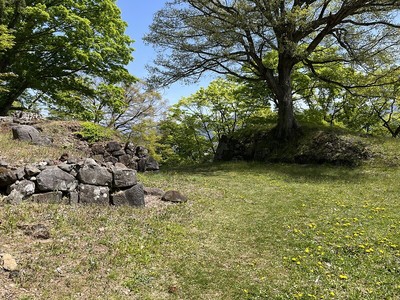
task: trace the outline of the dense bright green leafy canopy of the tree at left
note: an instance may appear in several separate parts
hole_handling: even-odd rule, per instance
[[[98,78],[133,80],[125,69],[132,41],[115,0],[0,0],[0,26],[15,36],[0,52],[0,73],[15,74],[0,94],[0,115],[29,91],[57,100],[93,94]]]

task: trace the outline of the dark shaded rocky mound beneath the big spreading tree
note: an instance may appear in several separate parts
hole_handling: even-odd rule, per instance
[[[334,127],[303,126],[289,141],[268,132],[238,132],[225,137],[217,149],[216,161],[247,160],[299,164],[356,166],[376,156],[369,136]]]

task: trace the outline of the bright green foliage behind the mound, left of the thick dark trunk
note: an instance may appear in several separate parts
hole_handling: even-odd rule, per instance
[[[270,117],[265,87],[216,79],[207,88],[182,98],[161,124],[168,160],[210,161],[223,135],[252,130]],[[171,149],[175,155],[171,156]],[[167,157],[167,155],[164,155]]]

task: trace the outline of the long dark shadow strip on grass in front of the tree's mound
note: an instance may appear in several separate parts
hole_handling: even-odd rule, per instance
[[[360,168],[332,165],[299,165],[262,162],[226,162],[164,168],[163,173],[182,176],[262,176],[290,182],[347,182],[366,179]]]

